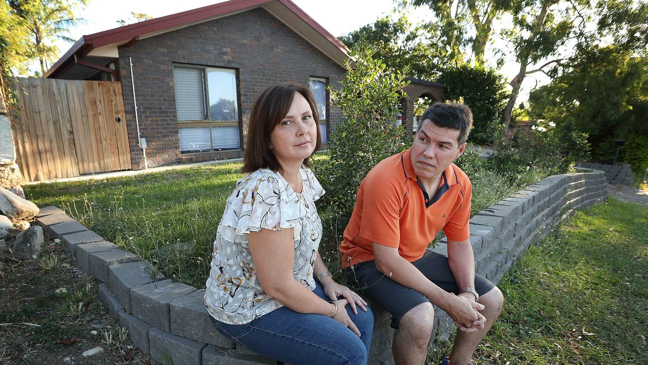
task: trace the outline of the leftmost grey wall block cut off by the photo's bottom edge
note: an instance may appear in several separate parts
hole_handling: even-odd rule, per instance
[[[148,343],[152,359],[173,365],[201,365],[202,350],[207,346],[156,327],[148,330]]]

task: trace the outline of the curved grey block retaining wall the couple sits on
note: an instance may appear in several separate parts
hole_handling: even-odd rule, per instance
[[[548,177],[481,210],[470,220],[476,271],[499,283],[516,258],[544,237],[555,221],[606,197],[603,171],[568,173]],[[154,360],[167,364],[172,360],[174,365],[281,364],[251,353],[215,331],[203,305],[204,289],[165,279],[149,264],[88,231],[59,208],[42,208],[37,223],[62,240],[85,273],[103,282],[100,300],[128,329],[133,344]],[[446,253],[445,240],[434,251]],[[436,309],[437,335],[448,338],[454,325]],[[369,364],[393,364],[391,318],[376,305],[373,312]]]

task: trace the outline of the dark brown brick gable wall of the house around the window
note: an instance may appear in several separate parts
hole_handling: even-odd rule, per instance
[[[213,160],[218,153],[194,157],[179,153],[178,121],[172,65],[194,64],[237,69],[238,107],[245,134],[249,113],[259,94],[281,82],[308,86],[309,77],[337,85],[344,69],[265,10],[256,8],[192,25],[119,47],[126,122],[133,169],[143,168],[128,57],[132,57],[141,137],[146,138],[148,166]],[[329,101],[329,133],[341,112]],[[245,136],[242,136],[245,140]],[[240,155],[220,153],[227,158]]]

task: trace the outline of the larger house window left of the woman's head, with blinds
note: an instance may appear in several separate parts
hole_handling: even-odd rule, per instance
[[[233,69],[174,66],[180,153],[240,148]]]

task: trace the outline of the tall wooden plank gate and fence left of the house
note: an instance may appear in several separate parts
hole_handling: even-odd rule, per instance
[[[25,181],[130,169],[121,82],[19,78],[14,123]]]

